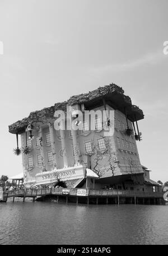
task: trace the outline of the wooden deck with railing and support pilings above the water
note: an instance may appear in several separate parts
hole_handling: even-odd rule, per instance
[[[64,188],[42,188],[42,189],[18,189],[18,190],[9,190],[8,191],[8,198],[13,197],[13,202],[15,197],[23,197],[24,200],[26,197],[32,197],[33,201],[35,198],[44,197],[47,195],[57,195],[57,196],[64,196],[66,197],[66,202],[68,202],[68,198],[76,197],[78,202],[78,198],[86,199],[86,203],[89,203],[90,199],[96,198],[96,203],[98,199],[100,201],[105,198],[106,202],[108,202],[108,198],[117,199],[115,201],[119,204],[119,202],[123,202],[123,199],[128,202],[128,198],[130,198],[130,203],[138,203],[144,202],[146,199],[152,199],[155,204],[163,204],[163,193],[162,192],[139,192],[139,191],[128,191],[128,190],[112,190],[112,189],[86,189],[86,188],[71,188],[71,189],[64,189]],[[57,197],[58,198],[58,197]],[[98,199],[97,199],[98,198]],[[160,201],[161,203],[156,203]]]

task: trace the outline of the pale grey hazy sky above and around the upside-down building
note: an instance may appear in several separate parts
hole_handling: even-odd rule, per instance
[[[0,176],[22,171],[8,125],[113,82],[143,110],[141,164],[167,181],[167,10],[167,0],[0,0]]]

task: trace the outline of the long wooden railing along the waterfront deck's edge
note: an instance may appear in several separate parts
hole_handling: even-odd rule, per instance
[[[83,194],[79,192],[82,190]],[[157,197],[162,198],[162,192],[139,192],[130,190],[117,189],[86,189],[86,188],[41,188],[41,189],[18,189],[9,190],[8,197],[38,197],[49,194],[62,195],[69,194],[70,196],[99,196],[99,197]]]

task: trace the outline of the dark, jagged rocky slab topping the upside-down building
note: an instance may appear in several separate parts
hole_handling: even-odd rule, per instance
[[[114,109],[118,109],[125,113],[127,110],[128,118],[131,121],[141,120],[144,118],[143,111],[136,105],[132,105],[129,96],[124,95],[122,87],[111,83],[103,87],[99,87],[94,91],[86,94],[74,95],[69,100],[62,103],[55,103],[54,106],[44,108],[42,110],[31,112],[29,117],[18,120],[16,123],[9,125],[10,133],[22,133],[29,123],[46,122],[46,119],[54,118],[55,110],[63,110],[66,112],[67,105],[75,105],[85,103],[85,109],[89,110],[96,106],[102,105],[102,99],[105,99],[106,104],[109,104]],[[135,118],[136,117],[136,118]]]

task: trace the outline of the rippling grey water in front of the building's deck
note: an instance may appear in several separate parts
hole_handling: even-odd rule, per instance
[[[168,244],[168,205],[0,203],[0,244]]]

